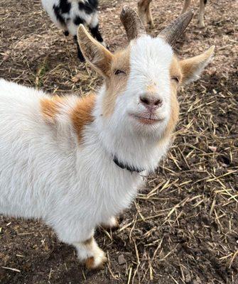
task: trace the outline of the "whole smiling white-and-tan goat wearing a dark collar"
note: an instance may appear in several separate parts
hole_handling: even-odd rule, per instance
[[[124,6],[129,45],[112,54],[80,25],[85,59],[104,77],[97,94],[50,96],[0,80],[0,213],[39,218],[77,249],[87,268],[107,260],[94,240],[117,226],[171,144],[178,88],[198,79],[214,47],[179,60],[171,47],[193,17],[179,16],[156,38]]]

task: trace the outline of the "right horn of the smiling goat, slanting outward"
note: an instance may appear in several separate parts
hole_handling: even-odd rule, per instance
[[[185,31],[185,28],[187,28],[188,24],[193,18],[193,13],[194,11],[190,10],[178,16],[175,21],[173,21],[170,25],[164,28],[161,33],[158,34],[158,37],[163,38],[167,43],[173,45],[175,40],[178,40],[180,35],[182,35],[182,33]]]

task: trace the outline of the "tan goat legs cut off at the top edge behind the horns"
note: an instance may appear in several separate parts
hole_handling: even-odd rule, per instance
[[[153,17],[151,16],[151,1],[152,0],[139,0],[137,2],[139,16],[141,21],[146,25],[148,24],[150,28],[154,28]],[[188,10],[188,7],[191,4],[191,0],[185,0],[183,5],[182,13]],[[207,0],[200,0],[200,9],[198,14],[198,27],[204,28],[204,12],[205,5],[207,4]]]

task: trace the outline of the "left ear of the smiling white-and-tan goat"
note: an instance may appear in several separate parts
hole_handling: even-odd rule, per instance
[[[109,52],[97,40],[87,32],[81,24],[77,30],[77,41],[82,54],[88,62],[104,77],[109,77],[111,73],[112,53]]]

